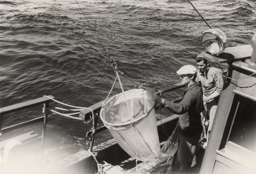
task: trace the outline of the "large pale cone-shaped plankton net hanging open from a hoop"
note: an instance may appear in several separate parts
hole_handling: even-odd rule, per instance
[[[158,159],[154,101],[146,90],[132,89],[110,98],[102,107],[100,118],[127,154],[140,161]]]

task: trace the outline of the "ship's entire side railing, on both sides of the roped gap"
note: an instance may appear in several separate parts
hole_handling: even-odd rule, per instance
[[[224,73],[226,73],[226,72],[227,71],[224,71]],[[176,83],[176,84],[171,85],[171,86],[161,88],[161,89],[156,90],[155,92],[153,91],[153,92],[155,94],[160,95],[160,94],[165,94],[167,92],[171,92],[171,91],[180,89],[182,87],[185,87],[185,85],[180,82],[180,83]],[[49,95],[49,97],[54,98],[52,95]],[[10,131],[13,131],[13,130],[24,128],[26,126],[32,125],[32,124],[37,123],[37,122],[44,121],[44,123],[42,125],[42,135],[41,135],[41,152],[42,152],[42,150],[44,149],[44,142],[45,142],[45,135],[46,135],[47,118],[48,118],[47,113],[44,113],[45,114],[44,116],[34,118],[34,119],[31,119],[31,120],[28,120],[28,121],[25,121],[25,122],[22,122],[22,123],[18,123],[16,125],[12,125],[12,126],[9,126],[7,128],[4,128],[4,129],[2,129],[2,120],[3,120],[3,116],[5,114],[13,113],[15,111],[24,110],[24,109],[27,109],[27,108],[31,108],[31,107],[34,107],[34,106],[41,105],[41,104],[44,104],[45,107],[49,107],[49,103],[51,101],[52,100],[48,97],[40,97],[40,98],[36,98],[34,100],[30,100],[30,101],[27,101],[27,102],[23,102],[23,103],[7,106],[7,107],[4,107],[4,108],[0,108],[0,135],[5,133],[5,132],[10,132]],[[174,100],[174,102],[179,102],[179,101],[181,101],[181,98],[178,98],[178,99]],[[105,126],[97,127],[98,116],[99,116],[99,113],[100,113],[103,102],[104,101],[98,102],[95,105],[92,105],[92,106],[89,107],[90,109],[93,110],[93,113],[95,115],[94,116],[94,125],[93,125],[93,128],[94,128],[95,131],[90,130],[86,133],[86,137],[91,137],[91,142],[90,142],[91,152],[92,152],[92,149],[93,149],[95,134],[99,133],[99,132],[102,132],[102,131],[107,129]],[[84,109],[84,110],[80,111],[79,117],[82,120],[86,121],[87,119],[91,119],[92,112],[88,109]],[[159,126],[160,124],[164,124],[165,122],[172,121],[172,120],[177,119],[177,118],[178,117],[164,118],[163,120],[160,120],[161,122],[158,121],[157,125]]]

